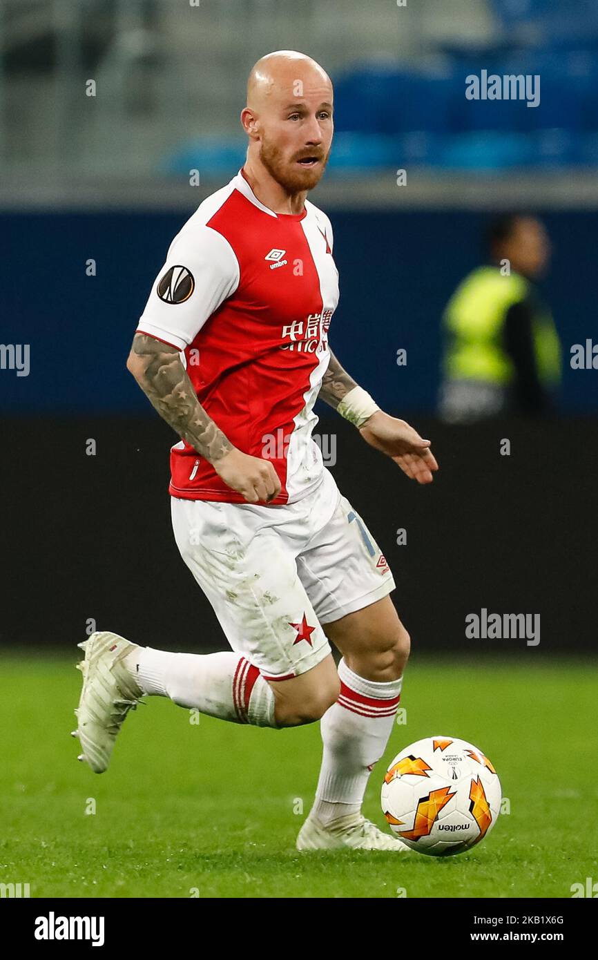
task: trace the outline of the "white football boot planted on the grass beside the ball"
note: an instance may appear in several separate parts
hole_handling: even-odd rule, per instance
[[[327,825],[310,814],[299,830],[297,849],[412,852],[402,840],[385,833],[370,820],[366,820],[363,813],[347,813]]]

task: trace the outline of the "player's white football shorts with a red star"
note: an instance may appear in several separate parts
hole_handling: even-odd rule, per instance
[[[395,589],[384,555],[326,468],[297,503],[171,497],[180,555],[228,643],[268,680],[288,680],[330,653],[323,623]]]

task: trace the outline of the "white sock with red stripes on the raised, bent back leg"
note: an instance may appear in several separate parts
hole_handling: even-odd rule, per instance
[[[272,687],[240,654],[173,654],[136,647],[123,663],[144,693],[170,697],[179,707],[232,723],[276,728]]]

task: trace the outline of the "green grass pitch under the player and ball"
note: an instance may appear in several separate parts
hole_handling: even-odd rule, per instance
[[[77,654],[2,657],[0,882],[30,883],[32,897],[569,898],[571,884],[598,880],[595,664],[412,657],[407,723],[374,767],[366,815],[385,826],[386,765],[433,734],[484,750],[511,806],[471,852],[435,858],[295,850],[319,724],[196,725],[147,698],[108,772],[93,774],[69,736]]]

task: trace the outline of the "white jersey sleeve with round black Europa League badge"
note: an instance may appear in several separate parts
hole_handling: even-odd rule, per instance
[[[239,284],[239,263],[227,239],[210,227],[185,228],[155,278],[138,333],[183,350]]]

